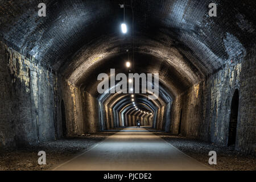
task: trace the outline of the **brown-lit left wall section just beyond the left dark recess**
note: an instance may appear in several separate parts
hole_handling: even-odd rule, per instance
[[[70,84],[62,76],[57,81],[56,95],[59,107],[56,110],[59,137],[63,137],[65,125],[67,137],[77,137],[85,133],[96,133],[101,130],[100,105],[97,98],[75,85]],[[65,111],[60,109],[63,101]],[[63,122],[65,114],[65,123]]]

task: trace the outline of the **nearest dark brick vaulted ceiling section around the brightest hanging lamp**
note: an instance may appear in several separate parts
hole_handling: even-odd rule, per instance
[[[37,14],[39,2],[1,1],[1,38],[74,84],[86,69],[127,48],[173,61],[177,72],[198,81],[233,55],[245,56],[256,37],[254,0],[216,0],[216,18],[208,16],[209,0],[133,1],[134,47],[130,7],[126,10],[129,33],[123,36],[119,30],[123,11],[118,5],[123,1],[44,1],[45,18]]]

